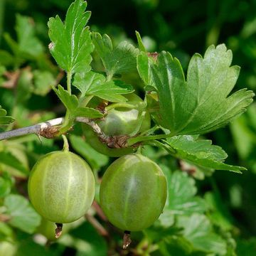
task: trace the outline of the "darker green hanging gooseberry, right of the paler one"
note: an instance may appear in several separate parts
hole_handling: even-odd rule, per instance
[[[162,213],[166,196],[163,171],[141,154],[114,161],[100,185],[100,206],[110,223],[121,230],[148,228]]]

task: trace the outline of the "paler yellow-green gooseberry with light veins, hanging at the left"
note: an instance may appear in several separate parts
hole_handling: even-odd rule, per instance
[[[85,160],[53,151],[37,161],[28,178],[28,196],[43,218],[70,223],[82,217],[95,196],[95,177]]]

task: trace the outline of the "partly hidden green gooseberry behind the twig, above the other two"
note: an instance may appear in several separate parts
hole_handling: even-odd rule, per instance
[[[149,112],[144,110],[143,100],[134,93],[124,95],[127,102],[124,104],[112,103],[109,105],[107,115],[96,123],[107,136],[134,136],[145,132],[150,128]],[[144,113],[142,115],[142,113]],[[100,141],[97,134],[90,126],[83,126],[86,141],[97,151],[107,156],[123,156],[134,151],[134,147],[127,148],[110,148],[107,144]]]

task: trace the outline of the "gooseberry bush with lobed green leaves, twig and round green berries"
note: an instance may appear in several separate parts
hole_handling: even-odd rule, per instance
[[[236,255],[220,198],[196,187],[215,170],[246,170],[203,135],[252,103],[252,91],[232,92],[240,68],[231,50],[194,54],[184,75],[171,53],[148,52],[139,32],[134,46],[90,30],[86,7],[76,0],[65,20],[48,21],[58,68],[29,18],[17,16],[17,41],[5,36],[12,53],[1,53],[1,83],[14,91],[14,110],[0,109],[0,252]],[[60,111],[21,119],[31,114],[24,105],[40,105],[32,95],[50,93]]]

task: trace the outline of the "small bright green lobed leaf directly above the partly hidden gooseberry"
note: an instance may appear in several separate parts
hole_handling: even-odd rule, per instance
[[[125,102],[126,98],[121,94],[134,91],[132,85],[121,80],[106,81],[104,75],[94,71],[75,74],[73,85],[82,92],[81,96],[94,95],[110,102]]]

